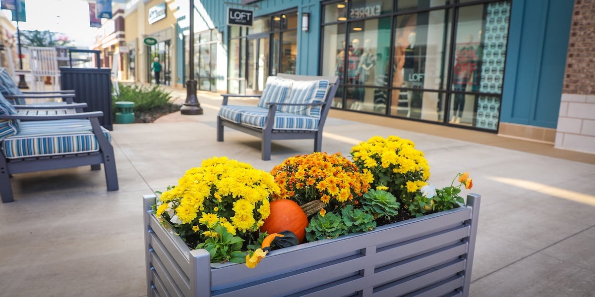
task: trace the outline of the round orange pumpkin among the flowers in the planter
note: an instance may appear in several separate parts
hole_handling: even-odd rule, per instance
[[[280,199],[271,201],[271,214],[264,220],[260,230],[269,234],[289,230],[295,233],[302,243],[306,239],[306,227],[308,217],[302,208],[293,200]]]

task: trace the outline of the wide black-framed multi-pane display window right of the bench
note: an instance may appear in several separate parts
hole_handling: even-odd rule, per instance
[[[333,107],[497,130],[511,1],[392,2],[324,5],[321,74],[340,78]]]

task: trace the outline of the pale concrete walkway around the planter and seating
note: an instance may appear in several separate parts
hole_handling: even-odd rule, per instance
[[[183,103],[185,90],[171,89]],[[104,172],[87,167],[12,178],[15,202],[0,205],[0,296],[145,296],[142,195],[177,184],[212,156],[270,170],[312,151],[311,140],[274,141],[271,160],[262,161],[259,139],[231,129],[219,143],[219,96],[199,91],[198,97],[203,115],[114,125],[118,191],[107,192]],[[543,153],[547,146],[526,141],[469,132],[493,141],[486,145],[433,135],[443,128],[436,125],[424,132],[422,123],[362,118],[333,110],[322,149],[349,155],[369,137],[397,135],[424,151],[437,187],[458,172],[474,179],[472,192],[483,199],[471,296],[595,296],[592,155],[558,151],[552,157]],[[500,145],[507,142],[521,149]]]

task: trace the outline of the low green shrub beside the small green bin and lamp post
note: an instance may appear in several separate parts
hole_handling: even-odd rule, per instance
[[[118,101],[134,102],[136,122],[148,122],[154,115],[163,115],[180,109],[171,101],[171,93],[159,86],[139,86],[137,84],[118,83],[120,94],[112,98],[112,110]]]

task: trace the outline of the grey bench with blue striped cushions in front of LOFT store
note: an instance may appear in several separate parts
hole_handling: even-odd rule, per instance
[[[217,115],[217,141],[223,127],[262,139],[262,160],[271,159],[271,141],[314,139],[321,151],[322,128],[337,91],[339,77],[278,74],[267,78],[262,95],[223,94]],[[258,97],[256,106],[228,105],[230,97]]]

